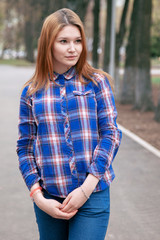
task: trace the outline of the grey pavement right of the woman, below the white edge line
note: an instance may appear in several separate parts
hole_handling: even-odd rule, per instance
[[[160,158],[123,135],[107,240],[160,239]]]

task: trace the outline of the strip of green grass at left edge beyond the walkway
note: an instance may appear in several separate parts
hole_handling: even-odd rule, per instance
[[[0,59],[0,64],[19,66],[19,67],[30,67],[34,66],[33,63],[26,61],[25,59]]]

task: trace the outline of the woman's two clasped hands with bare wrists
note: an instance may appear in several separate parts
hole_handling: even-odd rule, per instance
[[[43,197],[41,191],[33,195],[36,205],[48,215],[58,219],[69,220],[72,218],[78,211],[78,209],[87,201],[86,196],[90,196],[95,189],[99,179],[88,174],[86,180],[84,181],[82,188],[76,188],[72,191],[66,199],[63,201],[63,204],[59,203],[53,199],[46,199]],[[36,183],[31,188],[31,191],[39,186],[39,183]],[[84,194],[85,193],[85,194]]]

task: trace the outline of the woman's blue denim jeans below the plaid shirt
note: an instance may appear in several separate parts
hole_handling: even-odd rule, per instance
[[[45,198],[63,202],[63,198],[44,192]],[[40,210],[34,203],[40,240],[104,240],[109,215],[109,187],[92,193],[87,202],[70,220],[55,219]]]

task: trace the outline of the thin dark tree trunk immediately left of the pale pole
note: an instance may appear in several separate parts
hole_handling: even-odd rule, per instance
[[[107,0],[103,70],[109,72],[112,0]]]

